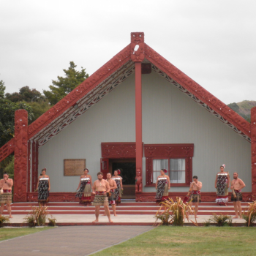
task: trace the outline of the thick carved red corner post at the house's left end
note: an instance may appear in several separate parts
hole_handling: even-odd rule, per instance
[[[26,202],[28,170],[28,113],[15,111],[14,149],[14,195],[15,202]]]

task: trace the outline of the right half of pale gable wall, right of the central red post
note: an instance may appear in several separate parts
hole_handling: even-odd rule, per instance
[[[156,72],[143,75],[143,142],[194,143],[193,176],[203,182],[202,192],[216,191],[214,181],[222,164],[231,177],[238,172],[246,184],[244,192],[252,191],[251,144]]]

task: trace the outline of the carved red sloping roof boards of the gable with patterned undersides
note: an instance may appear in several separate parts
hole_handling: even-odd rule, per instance
[[[66,97],[30,124],[29,140],[36,140],[39,146],[44,145],[127,79],[129,75],[132,75],[135,72],[135,64],[131,59],[133,49],[132,43],[127,45]],[[151,67],[155,72],[250,142],[250,123],[248,121],[146,44],[144,51],[144,61],[151,62]],[[13,151],[14,139],[0,148],[0,162]]]

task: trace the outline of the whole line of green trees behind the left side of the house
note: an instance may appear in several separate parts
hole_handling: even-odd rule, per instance
[[[56,80],[52,80],[49,90],[43,90],[42,93],[37,89],[31,89],[33,86],[23,86],[19,91],[5,93],[6,86],[4,81],[0,80],[0,148],[14,137],[16,110],[27,110],[29,124],[31,124],[69,94],[70,91],[79,86],[86,78],[89,78],[86,69],[81,67],[80,70],[77,70],[76,67],[75,63],[70,61],[68,69],[63,69],[64,76],[58,76]],[[12,170],[11,165],[14,162],[12,158],[10,156],[0,162],[0,175],[3,170]]]

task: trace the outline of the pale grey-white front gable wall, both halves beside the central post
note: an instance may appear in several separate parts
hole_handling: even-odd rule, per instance
[[[202,192],[214,192],[219,165],[238,171],[251,191],[250,143],[152,71],[143,75],[143,143],[194,143],[193,175]],[[79,178],[63,176],[64,159],[86,158],[93,179],[102,142],[135,142],[135,76],[131,75],[86,113],[39,148],[39,170],[48,167],[51,192],[75,192]],[[143,183],[145,185],[145,158]],[[143,192],[154,192],[143,187]],[[173,187],[170,191],[187,191]]]

